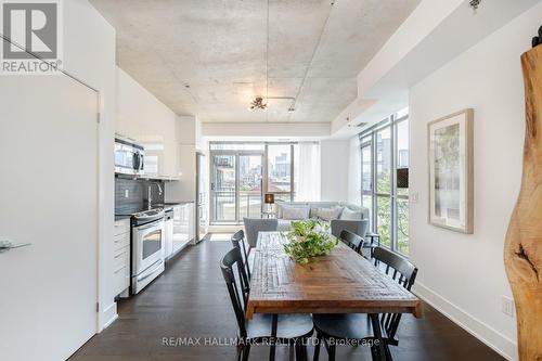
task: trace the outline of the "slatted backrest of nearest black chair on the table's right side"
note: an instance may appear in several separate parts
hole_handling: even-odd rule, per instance
[[[410,291],[417,275],[417,268],[412,265],[406,258],[399,256],[383,247],[376,247],[373,252],[374,263],[379,267],[379,263],[386,265],[384,272],[401,286]],[[390,275],[390,269],[393,271]],[[399,275],[399,278],[397,278]],[[387,338],[397,343],[395,339],[401,313],[385,313],[380,315],[380,325],[386,332]]]

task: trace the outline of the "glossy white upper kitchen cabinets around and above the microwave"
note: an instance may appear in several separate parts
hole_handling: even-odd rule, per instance
[[[117,67],[115,131],[145,147],[145,176],[179,179],[176,115]]]

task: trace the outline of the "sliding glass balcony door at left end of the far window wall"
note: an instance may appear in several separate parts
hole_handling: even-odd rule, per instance
[[[211,221],[240,223],[261,217],[263,154],[211,153]]]

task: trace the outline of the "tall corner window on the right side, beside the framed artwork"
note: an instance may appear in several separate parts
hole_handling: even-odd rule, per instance
[[[360,134],[361,203],[371,211],[370,228],[380,243],[409,254],[409,190],[398,169],[409,168],[408,109]],[[408,170],[406,170],[408,171]]]

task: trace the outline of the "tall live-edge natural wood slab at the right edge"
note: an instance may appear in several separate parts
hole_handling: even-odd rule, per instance
[[[504,246],[519,360],[542,360],[542,46],[521,55],[526,133],[521,189]]]

